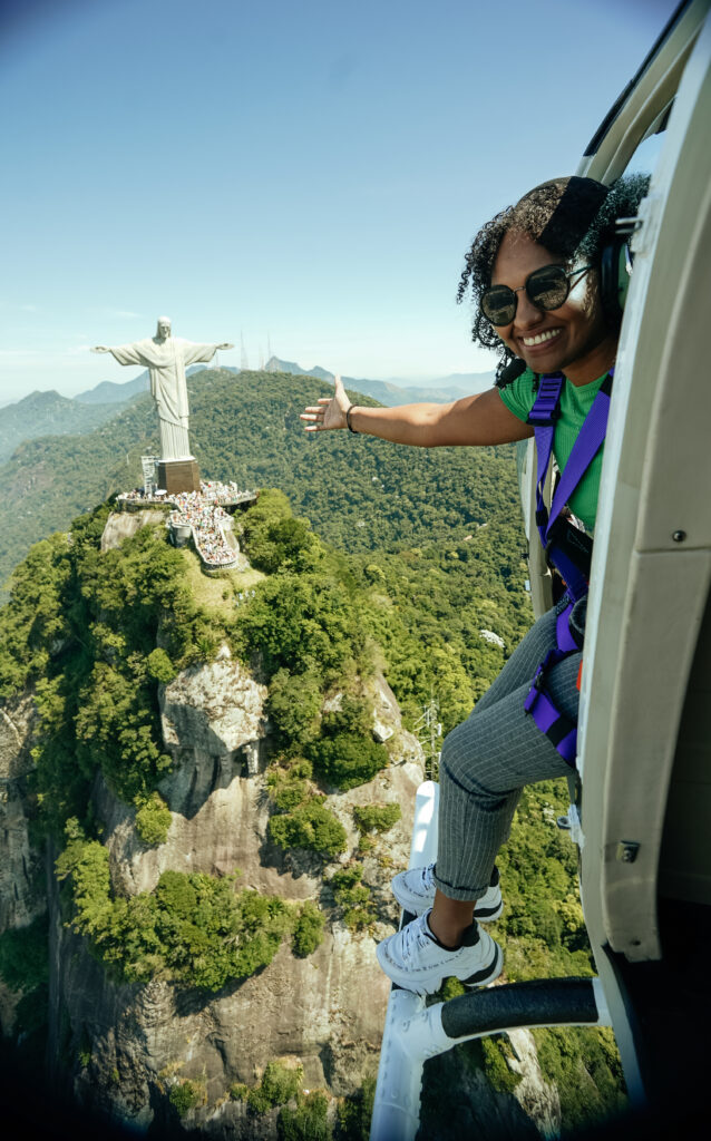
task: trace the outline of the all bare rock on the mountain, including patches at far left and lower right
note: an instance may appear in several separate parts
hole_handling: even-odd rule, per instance
[[[140,526],[162,523],[157,512],[114,515],[102,550],[120,545]],[[139,1131],[162,1124],[176,1136],[273,1139],[276,1111],[250,1116],[243,1102],[231,1099],[233,1083],[256,1085],[275,1059],[301,1066],[304,1086],[325,1089],[333,1098],[374,1075],[389,992],[374,947],[398,919],[389,880],[407,863],[414,795],[423,774],[420,746],[403,731],[385,680],[369,682],[366,696],[373,736],[388,743],[390,764],[367,784],[328,796],[328,808],[347,835],[342,865],[361,842],[356,806],[402,808],[402,819],[358,853],[362,882],[377,913],[366,932],[353,933],[344,924],[321,857],[301,849],[284,852],[269,840],[267,689],[226,646],[216,661],[185,670],[160,690],[163,745],[173,760],[160,785],[171,812],[165,841],[144,843],[134,808],[103,777],[95,780],[92,810],[115,895],[150,892],[167,871],[221,876],[239,869],[241,885],[290,901],[315,900],[326,915],[324,940],[308,957],[294,957],[284,942],[268,966],[217,994],[180,990],[161,979],[119,981],[91,956],[87,940],[64,925],[57,884],[45,876],[45,859],[30,845],[32,695],[0,707],[0,931],[24,928],[42,914],[49,883],[48,1058],[55,1081],[80,1103]],[[331,695],[324,709],[339,709],[341,697]],[[49,869],[55,855],[47,855]],[[11,1030],[18,997],[0,984],[3,1035]],[[556,1134],[556,1091],[541,1077],[531,1036],[517,1033],[523,1081],[514,1095],[494,1093],[483,1071],[467,1062],[463,1047],[428,1063],[428,1073],[439,1074],[441,1086],[423,1107],[422,1138],[444,1141],[450,1126],[452,1136],[486,1135],[504,1123],[512,1136],[524,1135],[516,1132],[524,1127],[533,1136]],[[170,1093],[186,1079],[200,1091],[199,1104],[179,1119]],[[452,1110],[444,1117],[443,1102]]]

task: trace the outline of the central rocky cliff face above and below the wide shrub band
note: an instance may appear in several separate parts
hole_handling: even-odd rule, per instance
[[[165,843],[146,847],[134,810],[103,779],[95,785],[116,892],[151,891],[167,869],[219,875],[239,868],[245,887],[289,900],[315,899],[331,917],[337,914],[322,860],[304,851],[284,853],[268,840],[265,698],[266,687],[226,653],[163,687],[163,738],[176,762],[161,785],[172,814]],[[256,1084],[268,1061],[294,1059],[304,1067],[306,1089],[325,1087],[334,1095],[353,1092],[374,1074],[389,989],[374,947],[396,921],[387,887],[393,867],[406,866],[422,761],[382,680],[374,687],[373,712],[378,731],[397,742],[393,763],[369,784],[329,796],[328,807],[347,831],[349,850],[341,857],[347,863],[358,842],[353,807],[402,806],[402,820],[364,863],[363,882],[378,904],[374,932],[353,934],[336,920],[307,958],[294,957],[283,944],[266,969],[217,995],[180,993],[161,981],[111,981],[83,940],[64,929],[52,901],[51,1052],[78,1059],[71,1070],[81,1101],[145,1128],[156,1115],[170,1118],[165,1094],[172,1083],[191,1078],[204,1090],[205,1103],[189,1111],[186,1126],[205,1135],[251,1138],[254,1119],[229,1101],[228,1090],[234,1082]],[[273,1134],[274,1122],[270,1128]]]

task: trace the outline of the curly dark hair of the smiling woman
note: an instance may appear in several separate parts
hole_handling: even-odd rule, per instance
[[[461,302],[470,291],[475,305],[471,339],[500,356],[496,377],[514,354],[502,343],[479,302],[491,285],[491,275],[504,234],[516,229],[572,265],[575,258],[599,264],[603,248],[615,237],[617,218],[635,217],[647,193],[649,175],[623,175],[609,188],[592,178],[555,178],[535,186],[516,205],[501,210],[478,232],[464,259],[457,290]]]

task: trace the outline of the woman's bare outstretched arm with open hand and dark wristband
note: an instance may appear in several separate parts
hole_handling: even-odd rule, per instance
[[[451,404],[404,404],[395,408],[350,406],[340,377],[333,396],[321,397],[301,413],[306,431],[329,431],[350,426],[366,436],[415,447],[447,445],[510,444],[533,436],[533,429],[509,412],[498,389],[464,396]]]

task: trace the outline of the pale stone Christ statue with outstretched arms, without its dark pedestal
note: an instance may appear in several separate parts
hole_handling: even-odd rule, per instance
[[[232,348],[234,345],[197,345],[171,337],[170,317],[159,317],[155,337],[115,348],[97,345],[91,351],[111,353],[119,364],[142,364],[148,369],[161,429],[161,461],[167,464],[194,459],[188,440],[186,366],[199,361],[207,363],[217,349]]]

